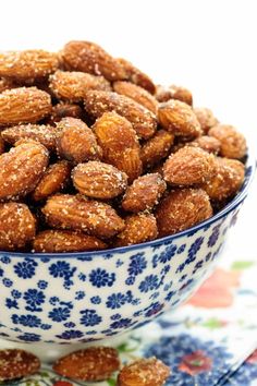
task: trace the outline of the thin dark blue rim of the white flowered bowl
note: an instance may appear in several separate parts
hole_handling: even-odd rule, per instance
[[[254,156],[255,152],[254,148],[250,148],[248,146],[248,152],[247,152],[247,161],[245,164],[246,170],[248,171],[248,176],[246,174],[244,179],[244,185],[243,189],[235,195],[235,197],[223,207],[222,210],[218,212],[215,216],[208,218],[207,220],[199,222],[198,225],[187,228],[181,232],[171,234],[171,236],[166,236],[160,239],[147,241],[140,244],[133,244],[133,245],[127,245],[127,246],[120,246],[120,248],[112,248],[109,250],[99,250],[99,251],[85,251],[85,252],[65,252],[65,253],[33,253],[33,252],[9,252],[9,251],[1,251],[0,250],[0,255],[7,255],[10,257],[28,257],[28,258],[87,258],[87,257],[105,257],[107,254],[123,254],[130,251],[135,251],[135,250],[143,250],[148,246],[155,246],[159,244],[166,244],[170,243],[175,239],[179,239],[183,236],[188,236],[189,233],[195,233],[199,229],[203,229],[212,222],[216,222],[220,218],[224,217],[228,215],[230,212],[232,212],[234,208],[236,208],[247,196],[249,186],[254,180],[255,177],[255,170],[257,167],[257,161]]]

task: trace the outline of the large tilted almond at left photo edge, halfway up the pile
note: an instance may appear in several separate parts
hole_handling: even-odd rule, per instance
[[[0,200],[32,192],[48,165],[48,150],[36,142],[23,143],[0,156]]]

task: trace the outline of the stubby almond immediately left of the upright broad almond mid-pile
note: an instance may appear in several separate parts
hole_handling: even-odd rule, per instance
[[[93,131],[81,119],[66,117],[57,124],[57,150],[61,158],[74,164],[101,157]]]

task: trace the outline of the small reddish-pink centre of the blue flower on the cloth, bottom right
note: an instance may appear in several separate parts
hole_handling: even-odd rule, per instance
[[[192,376],[211,370],[212,360],[206,357],[204,351],[197,350],[182,358],[179,370]]]

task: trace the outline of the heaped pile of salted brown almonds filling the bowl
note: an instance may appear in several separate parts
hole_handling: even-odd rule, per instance
[[[173,234],[211,217],[244,181],[235,128],[94,43],[0,53],[0,129],[3,251]]]

